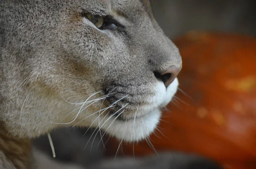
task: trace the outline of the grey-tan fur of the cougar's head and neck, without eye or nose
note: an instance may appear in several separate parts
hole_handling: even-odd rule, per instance
[[[154,72],[180,67],[182,61],[154,20],[148,0],[2,0],[0,11],[3,165],[25,168],[29,138],[57,127],[107,130],[113,121],[119,129],[136,117],[141,130],[136,136],[124,128],[127,140],[140,140],[154,130],[150,123],[157,125],[159,109],[177,90],[177,81],[166,89]],[[111,16],[123,27],[99,30],[84,17],[88,12]],[[79,112],[76,103],[103,96],[109,97]],[[115,107],[108,108],[111,104]],[[95,113],[102,109],[108,111]],[[108,134],[121,137],[116,128]]]

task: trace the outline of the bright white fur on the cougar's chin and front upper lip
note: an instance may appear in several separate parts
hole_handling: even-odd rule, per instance
[[[119,121],[115,118],[109,119],[103,126],[103,130],[107,130],[108,134],[115,136],[119,140],[124,141],[140,141],[148,137],[154,129],[157,127],[157,124],[160,121],[160,108],[165,107],[175,95],[178,87],[177,78],[172,82],[169,87],[159,83],[156,87],[156,95],[151,98],[152,108],[151,111],[147,112],[141,117],[128,120],[128,121]]]

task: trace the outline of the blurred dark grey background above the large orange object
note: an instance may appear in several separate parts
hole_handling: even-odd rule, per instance
[[[151,0],[151,6],[171,39],[190,30],[256,36],[256,0]]]

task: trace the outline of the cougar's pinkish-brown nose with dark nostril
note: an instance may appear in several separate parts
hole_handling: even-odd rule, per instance
[[[177,77],[181,68],[182,68],[182,65],[180,65],[179,68],[177,68],[177,66],[175,65],[172,65],[163,73],[154,72],[154,76],[156,76],[157,79],[160,79],[163,82],[163,84],[166,87],[168,87]]]

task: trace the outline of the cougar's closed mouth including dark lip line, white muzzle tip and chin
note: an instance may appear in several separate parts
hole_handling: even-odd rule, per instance
[[[138,101],[133,103],[128,99],[126,101],[119,101],[120,99],[114,99],[114,102],[109,101],[113,103],[119,101],[119,104],[111,109],[108,118],[103,118],[104,123],[100,128],[105,130],[108,135],[122,141],[134,142],[147,138],[157,128],[161,117],[160,109],[166,107],[172,100],[177,87],[177,78],[167,89],[159,83],[155,87],[154,96],[148,97],[146,100],[147,104]]]

